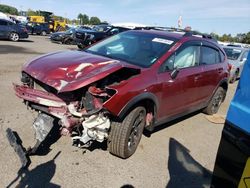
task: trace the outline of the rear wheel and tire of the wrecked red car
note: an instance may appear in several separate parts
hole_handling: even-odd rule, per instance
[[[208,115],[216,114],[220,108],[221,103],[224,101],[225,97],[226,97],[226,91],[222,87],[219,87],[217,91],[214,93],[208,106],[203,110],[203,112]]]

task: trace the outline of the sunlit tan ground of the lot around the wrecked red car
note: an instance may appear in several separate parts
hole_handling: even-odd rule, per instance
[[[109,154],[105,144],[85,151],[73,147],[70,137],[61,137],[47,153],[31,156],[28,169],[20,170],[5,131],[12,128],[25,147],[32,146],[35,114],[15,96],[12,83],[20,82],[21,66],[31,59],[76,49],[42,36],[0,41],[0,187],[209,187],[223,124],[209,122],[202,113],[143,136],[136,153],[126,160]],[[236,86],[237,82],[229,86],[218,114],[226,115]]]

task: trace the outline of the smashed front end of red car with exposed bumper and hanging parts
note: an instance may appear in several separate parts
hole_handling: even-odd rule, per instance
[[[117,93],[112,85],[138,73],[139,70],[123,67],[84,87],[58,92],[23,71],[22,84],[14,84],[16,96],[23,99],[29,109],[38,112],[33,123],[37,143],[29,152],[36,152],[54,120],[60,125],[61,135],[72,137],[73,145],[88,147],[93,141],[103,142],[108,138],[112,121],[112,114],[104,105]]]

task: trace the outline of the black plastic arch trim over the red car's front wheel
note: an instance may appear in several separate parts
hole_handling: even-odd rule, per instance
[[[150,93],[150,92],[145,92],[145,93],[142,93],[142,94],[139,94],[135,97],[133,97],[123,108],[122,110],[119,112],[118,114],[118,117],[119,119],[123,119],[125,117],[125,115],[129,112],[129,110],[131,110],[131,108],[133,106],[135,106],[136,104],[138,104],[140,101],[143,101],[143,100],[152,100],[155,104],[155,113],[157,113],[158,111],[158,108],[159,108],[159,101],[157,99],[157,97],[153,94],[153,93]]]

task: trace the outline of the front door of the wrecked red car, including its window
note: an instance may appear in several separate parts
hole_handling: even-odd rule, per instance
[[[162,85],[160,120],[197,108],[202,77],[200,44],[198,41],[187,42],[162,64],[158,74],[158,82]]]

